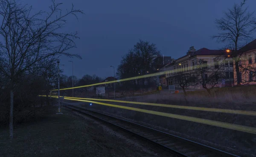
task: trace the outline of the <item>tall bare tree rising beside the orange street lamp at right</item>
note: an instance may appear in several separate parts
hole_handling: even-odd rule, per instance
[[[226,48],[231,49],[230,56],[235,59],[237,85],[240,85],[241,78],[239,76],[239,56],[238,51],[252,36],[252,32],[256,29],[256,18],[254,11],[249,12],[244,8],[246,0],[240,4],[234,4],[232,9],[224,12],[224,17],[216,19],[216,27],[221,31],[213,38],[220,43],[225,43]]]

